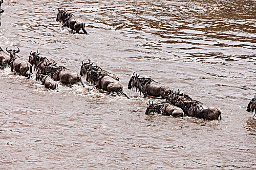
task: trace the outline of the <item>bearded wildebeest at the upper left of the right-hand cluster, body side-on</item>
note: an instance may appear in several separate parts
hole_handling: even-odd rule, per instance
[[[168,96],[171,95],[171,88],[167,85],[158,83],[150,78],[139,77],[140,75],[131,76],[130,81],[128,83],[128,89],[134,88],[136,92],[142,92],[144,97],[162,97],[163,99],[167,99]]]

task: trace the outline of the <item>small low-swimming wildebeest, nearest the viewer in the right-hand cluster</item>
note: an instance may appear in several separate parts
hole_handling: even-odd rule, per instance
[[[148,104],[148,103],[147,103]],[[157,113],[162,114],[166,116],[173,116],[174,118],[177,117],[184,117],[184,112],[181,108],[176,107],[170,103],[167,102],[160,102],[160,103],[149,103],[147,110],[145,112],[146,115],[149,115],[150,113]]]

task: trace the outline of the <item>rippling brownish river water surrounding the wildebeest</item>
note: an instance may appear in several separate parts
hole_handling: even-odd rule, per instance
[[[253,170],[256,120],[255,0],[4,0],[0,47],[39,49],[59,66],[83,60],[115,73],[125,93],[91,86],[47,90],[0,70],[1,170]],[[56,22],[58,8],[85,34]],[[217,107],[223,119],[147,116],[128,90],[136,72]],[[85,78],[83,78],[85,82]]]

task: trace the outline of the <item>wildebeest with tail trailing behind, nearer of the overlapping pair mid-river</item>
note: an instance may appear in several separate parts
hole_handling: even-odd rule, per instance
[[[86,81],[91,82],[96,88],[103,89],[107,92],[123,94],[129,99],[124,93],[123,86],[120,82],[110,77],[106,72],[99,71],[99,68],[88,68],[86,71]]]

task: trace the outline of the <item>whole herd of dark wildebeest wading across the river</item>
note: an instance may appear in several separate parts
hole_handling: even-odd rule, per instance
[[[3,1],[0,0],[0,6]],[[0,14],[4,10],[0,9]],[[68,27],[74,30],[76,33],[82,29],[84,34],[85,23],[75,17],[73,14],[68,13],[65,9],[58,10],[56,21],[63,23],[63,27]],[[64,66],[57,66],[55,61],[50,61],[46,57],[41,56],[37,51],[30,52],[28,61],[22,59],[17,53],[18,50],[12,50],[6,47],[5,49],[8,53],[4,52],[0,47],[0,68],[4,69],[6,67],[11,68],[11,71],[16,71],[22,76],[30,79],[32,74],[32,68],[36,71],[36,80],[41,81],[42,85],[46,88],[55,90],[58,88],[58,81],[64,85],[74,85],[81,84],[85,87],[82,77],[86,77],[87,84],[91,84],[98,89],[102,89],[108,93],[116,93],[117,95],[124,95],[129,99],[129,97],[124,93],[124,88],[121,85],[119,78],[99,66],[93,66],[90,60],[82,61],[82,66],[80,69],[80,74],[71,69],[65,68]],[[220,120],[221,111],[214,107],[207,107],[202,102],[193,100],[187,94],[174,92],[168,85],[158,83],[151,78],[140,77],[140,75],[133,73],[129,82],[128,89],[136,90],[136,93],[142,93],[143,97],[150,98],[161,98],[164,102],[149,102],[145,114],[162,114],[172,117],[196,117],[200,119],[217,119]],[[255,112],[254,118],[256,117],[256,96],[249,102],[247,109],[248,112]]]

